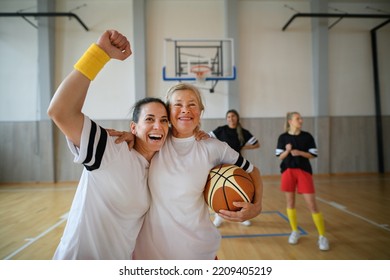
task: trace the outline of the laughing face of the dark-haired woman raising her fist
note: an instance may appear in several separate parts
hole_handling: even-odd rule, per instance
[[[142,105],[138,122],[131,123],[131,132],[136,136],[134,149],[150,160],[159,151],[168,135],[168,113],[158,102]]]

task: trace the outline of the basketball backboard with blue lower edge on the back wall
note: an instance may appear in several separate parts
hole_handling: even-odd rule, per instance
[[[165,39],[164,81],[235,80],[232,39]]]

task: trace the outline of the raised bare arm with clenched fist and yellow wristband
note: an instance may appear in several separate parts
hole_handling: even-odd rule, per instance
[[[47,113],[76,146],[80,146],[84,123],[81,110],[91,81],[110,58],[125,60],[130,55],[127,38],[115,30],[108,30],[84,53],[55,92]]]

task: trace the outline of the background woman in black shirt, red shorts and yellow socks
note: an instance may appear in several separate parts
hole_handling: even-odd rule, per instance
[[[279,136],[276,156],[280,164],[282,178],[281,190],[286,195],[287,216],[292,228],[288,242],[297,244],[300,238],[295,193],[302,194],[318,230],[318,246],[322,251],[329,250],[329,241],[325,237],[325,223],[316,203],[314,182],[310,159],[317,157],[317,147],[313,136],[302,130],[303,120],[298,112],[289,112],[286,116],[285,132]]]

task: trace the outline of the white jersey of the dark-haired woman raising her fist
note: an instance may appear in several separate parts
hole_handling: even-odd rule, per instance
[[[85,168],[53,259],[131,259],[150,205],[149,162],[114,140],[86,116],[80,149],[68,140]]]

